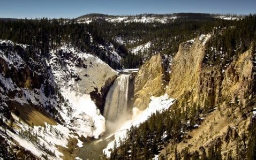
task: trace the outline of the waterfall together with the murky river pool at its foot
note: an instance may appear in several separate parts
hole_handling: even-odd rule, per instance
[[[85,159],[97,159],[102,150],[108,146],[113,137],[109,134],[115,131],[130,119],[128,106],[130,74],[121,74],[110,87],[106,97],[103,116],[106,118],[107,133],[104,138],[91,143],[84,143],[80,149],[79,157]]]

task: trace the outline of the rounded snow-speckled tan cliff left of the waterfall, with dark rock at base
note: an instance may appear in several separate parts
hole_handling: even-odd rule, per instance
[[[90,95],[103,113],[109,87],[118,73],[100,58],[74,48],[62,47],[57,51],[51,51],[50,57],[49,65],[58,86],[65,86],[79,94]]]

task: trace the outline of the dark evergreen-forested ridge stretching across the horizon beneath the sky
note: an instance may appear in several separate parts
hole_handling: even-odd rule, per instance
[[[152,15],[155,14],[141,14],[141,16]],[[0,39],[32,45],[45,57],[48,56],[50,49],[56,49],[63,44],[72,45],[78,50],[99,56],[114,68],[138,67],[143,60],[156,53],[174,56],[181,42],[213,31],[215,31],[215,36],[212,36],[210,42],[207,43],[208,61],[212,62],[215,62],[218,57],[213,58],[215,56],[213,56],[211,47],[227,51],[227,58],[230,58],[246,50],[251,41],[256,39],[255,15],[236,20],[223,20],[214,18],[212,14],[204,13],[176,13],[162,16],[168,15],[178,18],[164,24],[160,22],[108,22],[105,19],[96,19],[89,24],[78,23],[76,19],[0,19]],[[102,15],[88,14],[88,16]],[[104,15],[106,16],[108,15]],[[155,16],[161,17],[161,14]],[[90,37],[93,37],[93,41]],[[121,37],[126,43],[118,43],[116,37]],[[153,45],[147,51],[139,52],[137,55],[129,51],[149,41]],[[112,62],[99,49],[99,45],[109,43],[114,45],[117,54],[123,58],[121,64]]]

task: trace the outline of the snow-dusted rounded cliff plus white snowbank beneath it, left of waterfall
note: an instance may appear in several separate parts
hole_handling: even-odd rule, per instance
[[[114,49],[114,46],[110,45],[110,48]],[[67,102],[59,110],[61,116],[79,136],[99,138],[105,132],[105,118],[89,94],[95,92],[95,88],[101,90],[106,81],[118,73],[100,58],[72,47],[63,46],[50,54],[48,65],[51,66],[52,81]],[[63,55],[66,56],[64,62]]]

